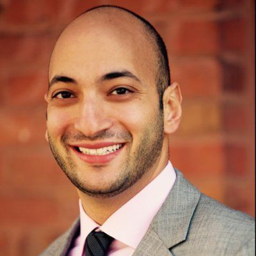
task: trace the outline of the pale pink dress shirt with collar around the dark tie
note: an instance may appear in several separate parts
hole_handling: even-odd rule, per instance
[[[152,182],[114,212],[102,226],[86,214],[79,200],[81,233],[74,241],[68,256],[84,255],[86,237],[95,228],[115,239],[109,247],[108,256],[131,256],[170,193],[175,179],[175,170],[168,162]]]

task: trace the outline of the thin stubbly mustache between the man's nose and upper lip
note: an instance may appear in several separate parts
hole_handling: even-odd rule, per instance
[[[128,131],[100,131],[99,133],[95,134],[95,136],[86,136],[83,134],[83,132],[76,132],[63,134],[61,141],[66,144],[68,142],[74,143],[77,141],[96,141],[109,138],[131,141],[132,135]]]

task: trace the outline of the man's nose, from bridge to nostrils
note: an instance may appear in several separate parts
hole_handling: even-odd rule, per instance
[[[85,136],[95,137],[113,125],[111,113],[104,108],[104,102],[95,97],[86,97],[78,106],[74,128]]]

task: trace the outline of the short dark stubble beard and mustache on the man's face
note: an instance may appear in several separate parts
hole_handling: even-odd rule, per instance
[[[51,134],[48,131],[49,145],[54,158],[63,170],[68,179],[86,195],[107,198],[118,195],[130,188],[134,183],[141,179],[141,177],[152,168],[156,163],[157,158],[161,154],[163,147],[163,136],[164,136],[164,122],[163,122],[163,111],[159,110],[155,122],[150,120],[149,124],[145,125],[145,129],[141,132],[140,143],[134,152],[131,152],[132,135],[128,131],[111,132],[102,131],[100,134],[93,138],[88,138],[82,133],[76,134],[63,134],[61,138],[61,145],[65,148],[65,156],[58,150],[56,143],[51,138]],[[125,141],[129,141],[130,147],[128,154],[125,158],[122,170],[112,184],[109,184],[108,188],[92,189],[86,186],[85,180],[81,179],[77,175],[77,166],[71,157],[70,149],[68,149],[67,141],[84,141],[84,140],[99,140],[106,138],[121,138]],[[102,166],[99,166],[99,168]],[[84,178],[86,179],[86,177]]]

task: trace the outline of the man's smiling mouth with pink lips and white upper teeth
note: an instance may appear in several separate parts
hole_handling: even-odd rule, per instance
[[[73,145],[72,150],[87,163],[107,163],[114,159],[124,148],[125,143],[97,143],[93,145]]]

